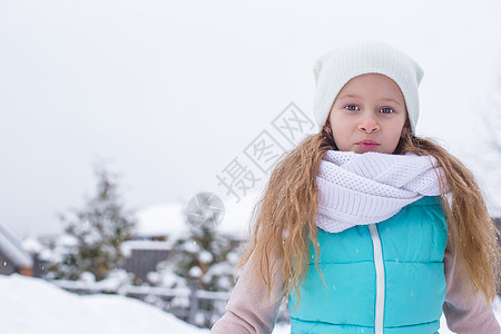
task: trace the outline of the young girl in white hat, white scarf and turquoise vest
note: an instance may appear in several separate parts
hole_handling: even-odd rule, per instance
[[[274,169],[212,333],[500,333],[498,230],[473,175],[416,137],[423,70],[381,42],[314,65],[320,132]]]

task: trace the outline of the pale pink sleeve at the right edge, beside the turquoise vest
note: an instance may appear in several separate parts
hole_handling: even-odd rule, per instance
[[[466,304],[462,294],[466,285],[461,281],[461,259],[448,247],[444,256],[446,291],[442,310],[449,328],[460,334],[501,333],[492,305],[487,302],[483,294],[477,294],[474,302]]]

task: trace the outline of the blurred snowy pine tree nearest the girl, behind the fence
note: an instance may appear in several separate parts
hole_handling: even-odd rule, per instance
[[[186,218],[189,229],[174,240],[167,261],[158,264],[157,272],[150,273],[148,279],[153,285],[164,286],[189,293],[190,289],[230,292],[237,276],[236,266],[239,259],[239,242],[217,229],[217,223],[212,219],[218,217],[209,213],[210,206],[200,206],[199,216],[204,224],[194,225]],[[181,294],[180,294],[181,295]],[[154,302],[161,307],[160,301]],[[176,296],[166,308],[188,308],[188,297]],[[222,310],[219,310],[219,306]],[[216,310],[216,307],[218,307]],[[207,318],[204,314],[224,312],[224,304],[198,304],[195,324],[209,327],[215,318]]]

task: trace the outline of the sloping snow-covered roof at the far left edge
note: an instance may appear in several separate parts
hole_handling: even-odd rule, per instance
[[[14,267],[31,267],[33,259],[22,247],[21,242],[16,237],[9,226],[0,222],[0,253],[12,262]]]

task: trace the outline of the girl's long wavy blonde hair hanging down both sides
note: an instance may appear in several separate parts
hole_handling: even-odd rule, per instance
[[[479,186],[472,173],[454,156],[432,139],[415,137],[406,128],[409,121],[395,154],[431,155],[443,168],[445,180],[441,181],[441,188],[449,229],[448,247],[455,249],[464,261],[465,271],[461,275],[463,282],[470,284],[470,291],[481,292],[492,302],[500,279],[499,232],[489,217]],[[287,297],[294,289],[299,304],[299,287],[307,273],[311,245],[316,255],[315,267],[321,273],[315,226],[316,176],[322,157],[331,149],[337,147],[327,120],[320,134],[307,136],[276,165],[254,207],[252,235],[238,266],[252,259],[254,274],[257,279],[264,279],[268,296],[277,274],[283,273],[282,296]],[[449,194],[445,194],[445,184]],[[274,274],[272,268],[277,259],[282,259],[282,268]],[[471,296],[469,294],[470,301]]]

